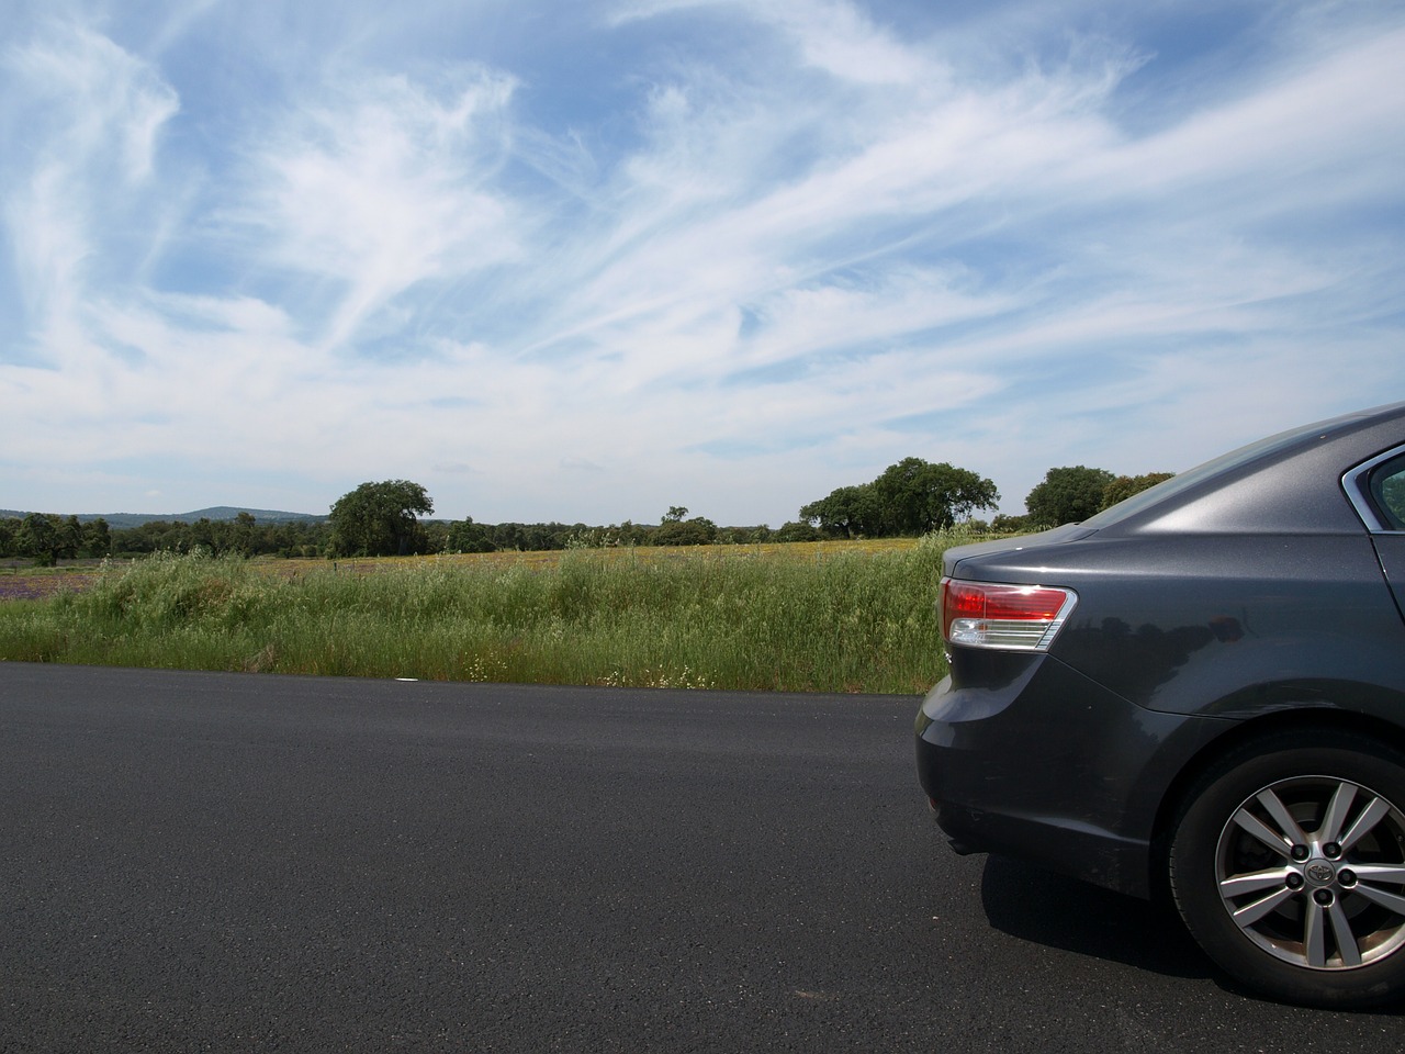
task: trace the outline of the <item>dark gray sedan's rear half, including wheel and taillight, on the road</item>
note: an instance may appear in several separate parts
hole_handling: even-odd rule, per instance
[[[1270,996],[1405,996],[1405,403],[947,552],[917,770],[958,852],[1166,892]]]

